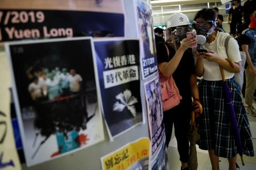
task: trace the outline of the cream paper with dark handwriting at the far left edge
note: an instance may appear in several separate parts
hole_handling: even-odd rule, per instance
[[[19,170],[21,166],[15,147],[13,127],[11,126],[11,94],[9,90],[11,73],[8,66],[5,53],[0,52],[0,169]]]

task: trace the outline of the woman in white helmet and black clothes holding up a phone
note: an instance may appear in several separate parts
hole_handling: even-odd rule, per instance
[[[172,126],[174,125],[181,169],[188,169],[188,129],[191,118],[191,97],[199,101],[197,79],[194,74],[195,65],[191,50],[191,47],[197,44],[197,40],[187,38],[187,32],[192,31],[191,23],[188,17],[182,13],[175,13],[170,16],[167,22],[167,31],[172,39],[171,42],[156,44],[158,68],[164,77],[174,77],[182,99],[179,105],[163,113],[166,144],[168,147],[172,135]]]

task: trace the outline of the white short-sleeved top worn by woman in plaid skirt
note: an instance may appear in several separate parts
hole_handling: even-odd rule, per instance
[[[217,54],[222,57],[223,59],[229,58],[230,60],[234,61],[234,63],[238,63],[241,61],[240,51],[238,43],[235,39],[230,38],[228,43],[228,55],[226,54],[225,49],[225,39],[229,36],[226,32],[217,32],[216,39],[208,44],[202,44],[201,48],[205,49],[212,49],[213,51],[217,52]],[[228,57],[229,56],[229,57]],[[208,61],[206,59],[203,59],[204,63],[204,75],[203,79],[208,81],[218,81],[222,80],[219,64]],[[225,79],[232,78],[234,76],[234,73],[230,73],[224,69]]]

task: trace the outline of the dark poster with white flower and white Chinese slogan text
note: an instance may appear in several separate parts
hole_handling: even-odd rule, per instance
[[[94,40],[97,80],[110,139],[142,123],[139,41]]]

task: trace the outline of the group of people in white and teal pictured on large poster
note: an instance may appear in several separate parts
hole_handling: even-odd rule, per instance
[[[80,92],[82,77],[75,69],[59,67],[52,69],[44,68],[31,74],[32,82],[28,85],[28,92],[32,100],[47,101],[55,100],[56,97],[68,96]]]

